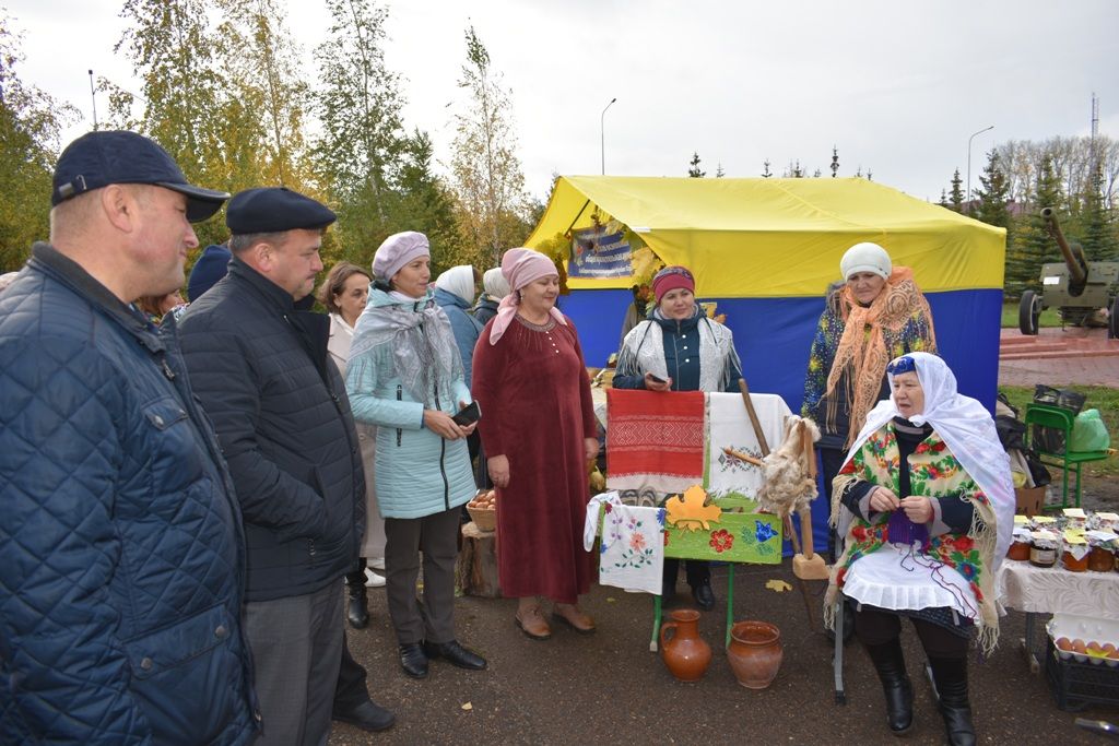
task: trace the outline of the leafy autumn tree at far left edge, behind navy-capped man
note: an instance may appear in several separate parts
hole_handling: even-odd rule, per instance
[[[22,39],[0,13],[0,273],[23,264],[48,235],[58,135],[77,111],[20,81]]]

